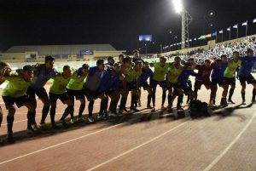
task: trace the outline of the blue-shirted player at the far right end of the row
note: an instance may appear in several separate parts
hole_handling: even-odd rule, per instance
[[[241,83],[241,99],[242,103],[246,102],[245,100],[245,90],[247,84],[253,84],[253,97],[252,103],[255,103],[255,95],[256,95],[256,81],[252,76],[251,72],[253,71],[253,66],[256,62],[256,57],[253,56],[253,49],[247,49],[247,56],[240,57],[241,66],[239,67],[238,76]],[[247,84],[246,84],[247,82]]]

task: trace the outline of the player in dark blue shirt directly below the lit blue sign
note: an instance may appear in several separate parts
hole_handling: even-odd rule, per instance
[[[148,83],[148,79],[150,82],[152,77],[153,77],[153,71],[149,68],[149,63],[144,62],[143,63],[143,73],[140,77],[139,88],[143,88],[144,90],[148,91],[148,102],[147,102],[148,109],[153,109],[153,107],[150,105],[151,99],[152,99],[152,87]]]

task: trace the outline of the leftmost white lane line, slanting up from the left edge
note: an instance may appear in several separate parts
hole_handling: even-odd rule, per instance
[[[32,152],[27,153],[27,154],[25,154],[25,155],[22,155],[22,156],[20,156],[20,157],[15,157],[15,158],[12,158],[12,159],[9,159],[9,160],[5,160],[5,161],[3,161],[3,162],[0,162],[0,165],[3,165],[4,163],[7,163],[7,162],[13,162],[13,161],[18,160],[18,159],[20,159],[20,158],[28,157],[28,156],[31,156],[31,155],[33,155],[33,154],[37,154],[37,153],[39,153],[39,152],[42,152],[42,151],[46,151],[46,150],[55,148],[55,147],[57,147],[57,146],[66,145],[67,143],[70,143],[70,142],[73,142],[73,141],[76,141],[76,140],[83,139],[83,138],[88,137],[88,136],[93,135],[93,134],[101,133],[101,132],[106,131],[106,130],[108,130],[108,129],[110,129],[110,128],[118,127],[118,126],[121,125],[121,124],[124,124],[124,123],[119,123],[119,124],[117,124],[117,125],[113,125],[113,126],[108,127],[108,128],[103,128],[103,129],[98,130],[98,131],[96,131],[96,132],[94,132],[94,133],[84,134],[83,136],[80,136],[80,137],[75,138],[75,139],[73,139],[73,140],[67,140],[67,141],[65,141],[65,142],[61,142],[61,143],[56,144],[56,145],[51,145],[51,146],[49,146],[49,147],[43,148],[43,149],[38,150],[38,151],[32,151]]]

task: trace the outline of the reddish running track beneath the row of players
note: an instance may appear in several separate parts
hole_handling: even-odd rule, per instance
[[[137,114],[60,126],[36,135],[26,134],[26,108],[22,107],[15,115],[15,144],[0,146],[0,170],[256,170],[256,106],[248,103],[252,87],[247,87],[247,105],[240,105],[238,82],[236,88],[236,104],[210,111],[211,117],[192,119],[186,110],[151,113],[143,109],[147,100],[143,92],[142,111]],[[218,88],[217,100],[220,94]],[[160,95],[158,89],[157,107]],[[199,99],[207,101],[209,95],[202,88]],[[78,111],[78,102],[76,106]],[[58,101],[56,121],[64,109]],[[38,101],[38,123],[41,110]],[[99,100],[94,111],[99,111]],[[3,118],[1,139],[6,134],[6,115]]]

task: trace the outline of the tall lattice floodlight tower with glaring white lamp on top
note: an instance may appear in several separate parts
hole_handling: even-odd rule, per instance
[[[183,8],[182,0],[172,0],[174,9],[182,17],[182,48],[189,48],[189,24],[192,17],[189,12]]]

